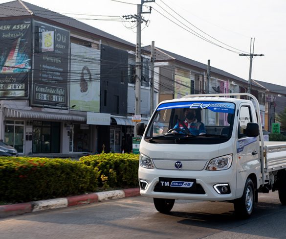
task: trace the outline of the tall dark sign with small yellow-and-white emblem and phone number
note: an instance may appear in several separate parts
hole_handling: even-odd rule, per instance
[[[32,105],[67,106],[69,31],[34,21]]]

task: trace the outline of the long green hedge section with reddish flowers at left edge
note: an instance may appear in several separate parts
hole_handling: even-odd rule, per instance
[[[27,202],[94,191],[98,171],[78,161],[0,157],[0,201]]]

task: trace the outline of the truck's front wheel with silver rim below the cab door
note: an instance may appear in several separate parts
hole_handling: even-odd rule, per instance
[[[235,214],[240,218],[249,218],[252,214],[255,201],[254,184],[250,178],[246,180],[245,187],[241,198],[234,202]]]

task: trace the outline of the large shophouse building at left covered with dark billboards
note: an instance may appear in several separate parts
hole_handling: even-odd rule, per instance
[[[0,37],[4,142],[23,155],[131,150],[134,44],[21,0],[0,4]]]

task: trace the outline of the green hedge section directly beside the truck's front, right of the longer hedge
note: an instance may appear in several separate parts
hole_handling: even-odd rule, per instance
[[[138,154],[102,153],[80,158],[80,162],[98,170],[99,186],[104,188],[138,187]]]

